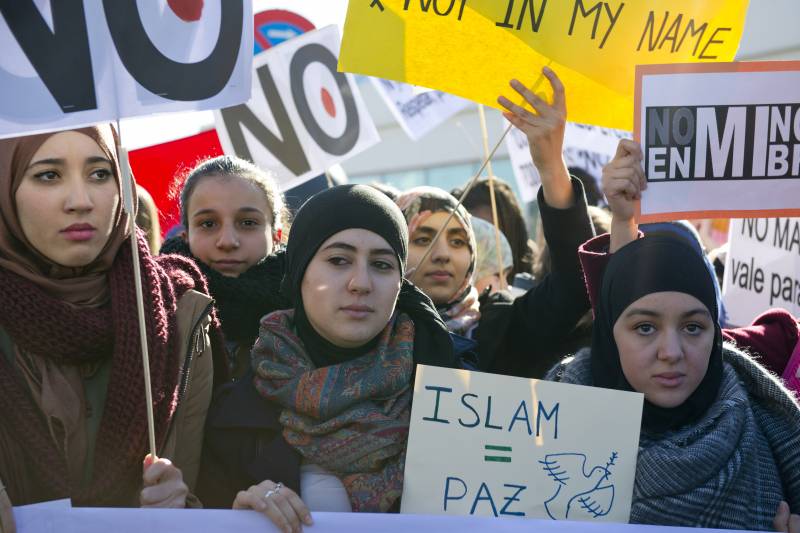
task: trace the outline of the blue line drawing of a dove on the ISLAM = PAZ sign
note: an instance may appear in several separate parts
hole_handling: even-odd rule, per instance
[[[544,503],[553,520],[594,520],[607,515],[614,505],[614,484],[611,467],[617,452],[605,466],[586,470],[586,455],[556,453],[546,455],[539,463],[556,484],[556,492]]]

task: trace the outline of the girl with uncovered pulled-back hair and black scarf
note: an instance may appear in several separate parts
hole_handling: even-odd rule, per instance
[[[249,368],[261,318],[289,307],[280,294],[287,214],[275,181],[252,163],[220,156],[189,172],[180,193],[185,231],[161,253],[193,259],[208,279],[233,379]]]

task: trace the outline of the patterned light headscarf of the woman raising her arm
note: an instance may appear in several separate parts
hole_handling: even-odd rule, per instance
[[[437,306],[439,314],[445,319],[448,328],[460,335],[468,333],[478,320],[478,294],[473,286],[475,266],[477,260],[477,245],[475,232],[472,229],[472,219],[464,208],[458,205],[451,194],[436,187],[415,187],[400,195],[396,200],[408,222],[409,238],[414,231],[435,213],[453,213],[454,218],[467,232],[469,241],[470,263],[466,276],[455,295],[445,305]]]

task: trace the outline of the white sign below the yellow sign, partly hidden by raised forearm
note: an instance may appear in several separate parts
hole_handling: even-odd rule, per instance
[[[614,157],[619,140],[630,138],[631,133],[627,131],[567,122],[564,128],[564,162],[568,168],[580,168],[589,173],[601,187],[603,167]],[[531,161],[527,136],[512,128],[506,136],[506,149],[522,201],[533,202],[541,179]]]

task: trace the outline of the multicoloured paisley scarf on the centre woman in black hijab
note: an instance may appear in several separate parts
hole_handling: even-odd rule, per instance
[[[386,512],[403,492],[411,416],[414,323],[392,318],[368,354],[315,368],[294,310],[261,321],[252,352],[256,389],[283,407],[283,437],[336,474],[355,512]]]

